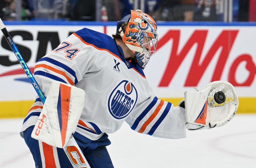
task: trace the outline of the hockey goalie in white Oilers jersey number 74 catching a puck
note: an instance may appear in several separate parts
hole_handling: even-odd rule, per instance
[[[36,167],[112,168],[107,133],[124,122],[141,134],[178,139],[186,129],[221,127],[234,117],[238,98],[226,81],[185,92],[177,107],[156,97],[143,69],[157,37],[153,18],[131,10],[112,37],[84,28],[38,60],[35,78],[47,98],[44,105],[36,98],[21,129]]]

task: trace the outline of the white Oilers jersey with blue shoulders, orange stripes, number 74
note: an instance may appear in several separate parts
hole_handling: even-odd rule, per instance
[[[38,60],[35,78],[47,97],[54,80],[75,85],[85,93],[76,131],[97,140],[117,131],[123,122],[143,134],[184,138],[185,110],[157,99],[138,64],[125,59],[110,36],[84,28]],[[28,111],[22,131],[35,125],[43,108],[39,98]]]

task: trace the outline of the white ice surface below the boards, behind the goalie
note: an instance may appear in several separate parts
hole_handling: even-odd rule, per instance
[[[19,135],[23,119],[0,119],[0,168],[33,168]],[[187,131],[184,139],[142,135],[124,123],[108,151],[115,168],[256,168],[256,115],[238,114],[224,127]]]

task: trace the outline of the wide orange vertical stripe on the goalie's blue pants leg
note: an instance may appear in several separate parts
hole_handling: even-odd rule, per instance
[[[52,146],[44,142],[42,142],[42,144],[44,151],[45,168],[56,168]]]

